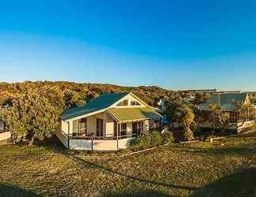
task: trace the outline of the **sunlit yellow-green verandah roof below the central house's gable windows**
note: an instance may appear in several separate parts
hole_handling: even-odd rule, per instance
[[[162,118],[162,115],[156,113],[155,110],[152,110],[149,107],[111,108],[107,111],[118,119],[118,121]]]

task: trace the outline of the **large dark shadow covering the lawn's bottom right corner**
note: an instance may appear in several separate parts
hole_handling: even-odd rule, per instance
[[[191,196],[256,196],[256,168],[246,169],[216,180]]]

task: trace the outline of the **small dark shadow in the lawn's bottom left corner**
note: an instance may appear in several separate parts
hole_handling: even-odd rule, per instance
[[[0,183],[0,196],[9,196],[9,197],[15,197],[15,196],[21,196],[21,197],[37,197],[40,195],[36,195],[32,191],[27,191],[22,188],[18,188],[15,185],[11,184],[1,184]]]

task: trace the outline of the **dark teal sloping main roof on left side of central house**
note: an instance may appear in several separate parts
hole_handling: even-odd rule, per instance
[[[127,92],[115,93],[115,94],[103,94],[98,98],[93,99],[91,102],[88,102],[85,106],[81,107],[72,107],[68,110],[65,110],[62,113],[62,120],[66,121],[73,117],[79,117],[86,115],[88,113],[96,112],[98,110],[104,110],[105,108],[111,106],[115,102],[118,102],[124,96],[128,95]]]

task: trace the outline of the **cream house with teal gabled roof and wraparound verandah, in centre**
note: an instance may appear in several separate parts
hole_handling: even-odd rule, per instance
[[[103,94],[65,110],[56,136],[73,150],[117,151],[141,132],[160,129],[162,115],[133,93]]]

